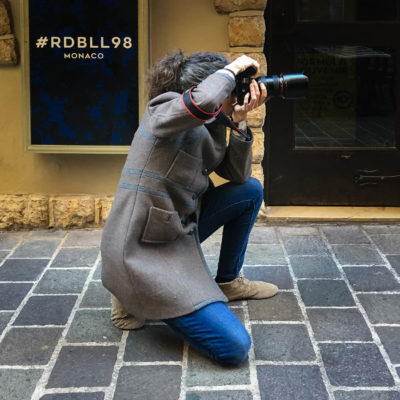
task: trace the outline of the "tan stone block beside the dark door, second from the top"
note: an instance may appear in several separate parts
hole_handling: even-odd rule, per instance
[[[264,46],[264,17],[232,17],[229,19],[228,33],[230,46]]]

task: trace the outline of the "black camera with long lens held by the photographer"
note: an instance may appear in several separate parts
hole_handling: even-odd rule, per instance
[[[250,92],[252,76],[256,72],[255,67],[249,67],[236,76],[234,93],[240,105],[243,104],[246,93]],[[308,77],[301,73],[259,76],[256,81],[265,85],[269,98],[302,99],[307,95]]]

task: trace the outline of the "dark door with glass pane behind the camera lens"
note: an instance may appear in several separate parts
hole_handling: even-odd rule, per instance
[[[270,0],[265,19],[268,74],[310,78],[267,106],[267,203],[400,206],[400,2]]]

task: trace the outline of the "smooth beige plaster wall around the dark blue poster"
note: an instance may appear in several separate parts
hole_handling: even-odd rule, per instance
[[[20,0],[10,3],[21,45]],[[149,3],[152,60],[178,48],[228,49],[228,17],[215,12],[213,0]],[[21,65],[0,66],[0,194],[113,194],[125,156],[24,152],[21,74]]]

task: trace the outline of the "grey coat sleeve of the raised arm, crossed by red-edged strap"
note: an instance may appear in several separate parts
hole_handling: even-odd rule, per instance
[[[234,88],[235,80],[217,71],[193,88],[192,99],[204,112],[214,113]],[[152,134],[160,138],[204,124],[203,120],[188,112],[179,93],[168,92],[155,97],[148,103],[146,111]]]

